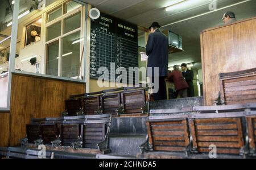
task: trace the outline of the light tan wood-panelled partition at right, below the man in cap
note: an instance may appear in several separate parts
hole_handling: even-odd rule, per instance
[[[220,91],[218,73],[256,67],[256,18],[201,32],[205,105],[213,105]]]

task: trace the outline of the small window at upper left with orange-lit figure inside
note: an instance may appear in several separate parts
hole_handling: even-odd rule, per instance
[[[40,40],[41,24],[42,24],[42,18],[26,26],[25,46]]]

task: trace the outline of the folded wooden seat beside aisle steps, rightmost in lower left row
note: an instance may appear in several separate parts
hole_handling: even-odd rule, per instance
[[[112,114],[88,115],[81,126],[82,143],[84,148],[97,148],[105,154],[109,152],[108,138]]]

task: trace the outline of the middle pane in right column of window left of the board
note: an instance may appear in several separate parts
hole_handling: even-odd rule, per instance
[[[81,26],[81,13],[77,13],[75,15],[69,16],[64,19],[64,34],[76,30]]]

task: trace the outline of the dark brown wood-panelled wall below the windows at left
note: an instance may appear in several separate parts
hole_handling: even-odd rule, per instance
[[[60,117],[64,100],[81,93],[85,93],[84,83],[13,74],[10,113],[0,113],[0,146],[18,145],[31,118]]]

